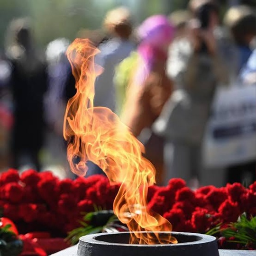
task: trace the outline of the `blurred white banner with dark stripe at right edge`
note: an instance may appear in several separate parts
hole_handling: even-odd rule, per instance
[[[219,88],[203,143],[205,167],[256,159],[256,86]]]

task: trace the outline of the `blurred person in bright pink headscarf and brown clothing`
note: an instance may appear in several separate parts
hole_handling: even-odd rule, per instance
[[[129,77],[123,84],[125,97],[121,120],[145,146],[145,157],[156,169],[156,182],[161,184],[163,141],[152,133],[151,126],[172,93],[172,81],[165,74],[167,50],[174,37],[174,27],[164,15],[147,18],[139,27],[137,55],[128,62]],[[131,61],[131,59],[130,59]],[[121,102],[121,101],[119,101]]]

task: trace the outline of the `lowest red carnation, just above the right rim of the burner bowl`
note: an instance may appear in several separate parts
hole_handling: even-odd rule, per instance
[[[205,232],[210,227],[208,211],[202,208],[194,211],[192,213],[191,223],[197,232]]]

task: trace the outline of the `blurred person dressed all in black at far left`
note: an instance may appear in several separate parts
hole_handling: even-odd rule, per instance
[[[10,164],[18,169],[26,159],[40,171],[39,152],[44,142],[43,97],[47,90],[47,73],[45,60],[35,47],[30,25],[28,19],[21,18],[13,20],[8,30],[6,55],[11,64],[10,88],[14,105],[11,138],[13,161]]]

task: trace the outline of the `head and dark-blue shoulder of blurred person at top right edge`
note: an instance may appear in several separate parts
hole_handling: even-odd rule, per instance
[[[256,14],[255,10],[243,5],[231,7],[224,17],[224,24],[229,28],[238,51],[238,73],[247,63],[255,47]]]

